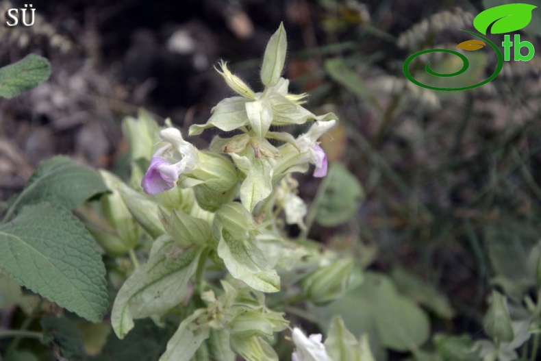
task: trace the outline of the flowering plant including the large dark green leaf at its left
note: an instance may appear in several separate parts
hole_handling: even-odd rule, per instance
[[[307,206],[293,175],[311,166],[314,177],[327,175],[319,140],[337,120],[332,113],[316,116],[303,108],[307,95],[288,92],[281,77],[285,58],[280,25],[266,47],[262,92],[225,62],[218,65],[237,96],[220,101],[207,123],[192,125],[189,135],[210,127],[235,132],[214,137],[209,149],[194,147],[169,121],[160,128],[145,112],[125,119],[134,164],[129,184],[68,158],[42,164],[1,228],[16,240],[0,242],[5,273],[96,322],[108,309],[108,271],[120,286],[110,314],[118,338],[127,337],[137,319],[177,326],[160,361],[278,360],[273,345],[277,332],[289,327],[289,303],[327,304],[362,278],[351,257],[322,251],[305,237],[288,238],[286,225],[307,230]],[[305,123],[309,127],[297,137],[277,129]],[[92,197],[101,197],[101,210],[81,207]],[[71,214],[74,208],[86,229]],[[107,269],[86,230],[112,260]],[[42,238],[36,240],[36,233]],[[37,276],[28,271],[33,262],[42,271]],[[66,328],[55,318],[42,327],[66,356],[66,343],[58,341],[59,327]],[[325,345],[321,336],[307,337],[297,327],[292,340],[296,361],[373,360],[366,338],[357,341],[340,318]]]

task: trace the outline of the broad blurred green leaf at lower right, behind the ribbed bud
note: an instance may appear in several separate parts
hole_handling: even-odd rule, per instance
[[[327,327],[331,318],[340,314],[353,334],[368,334],[377,360],[377,340],[395,351],[418,349],[429,337],[425,312],[401,296],[385,275],[368,272],[364,276],[364,283],[344,298],[311,309],[320,325]]]

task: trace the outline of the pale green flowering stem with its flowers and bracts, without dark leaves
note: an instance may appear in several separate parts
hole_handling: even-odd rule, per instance
[[[231,73],[225,62],[218,64],[216,70],[236,96],[220,101],[207,123],[192,125],[189,135],[218,128],[233,132],[231,136],[216,136],[209,149],[201,150],[171,123],[158,129],[149,119],[128,119],[125,132],[132,158],[149,165],[144,172],[134,168],[135,190],[102,172],[112,189],[104,199],[105,214],[112,224],[125,220],[118,251],[133,249],[137,236],[132,233],[138,226],[153,239],[148,260],[116,295],[112,327],[123,338],[134,319],[159,322],[168,312],[180,314],[161,361],[232,361],[236,355],[277,360],[273,342],[277,332],[290,327],[281,312],[286,299],[328,303],[340,297],[351,280],[351,259],[287,236],[285,225],[305,227],[307,212],[292,175],[312,167],[314,177],[325,177],[327,157],[319,138],[337,120],[331,113],[316,116],[302,106],[307,95],[288,92],[289,81],[281,77],[285,58],[281,25],[266,47],[262,92]],[[297,138],[279,132],[280,126],[305,123],[310,127]],[[115,206],[116,197],[123,201],[121,207]],[[101,237],[102,244],[107,242]],[[301,277],[284,289],[281,275],[295,273]],[[266,301],[275,293],[278,310]],[[293,360],[331,360],[320,335],[307,338],[292,326],[297,345]],[[347,332],[338,319],[335,328]],[[353,340],[351,345],[367,349],[366,340]],[[339,352],[338,344],[330,348],[330,354]],[[351,354],[351,360],[370,360],[357,357],[360,351]]]

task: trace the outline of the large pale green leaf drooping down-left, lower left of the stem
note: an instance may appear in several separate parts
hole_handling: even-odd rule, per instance
[[[134,319],[162,314],[186,297],[201,248],[181,249],[169,236],[154,241],[149,260],[124,282],[116,295],[111,324],[118,338],[134,327]]]

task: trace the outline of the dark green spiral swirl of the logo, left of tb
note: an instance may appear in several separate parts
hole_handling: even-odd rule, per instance
[[[413,55],[411,55],[409,58],[407,58],[405,60],[404,65],[402,67],[402,70],[404,72],[405,77],[407,77],[407,79],[410,80],[410,82],[412,82],[413,84],[416,84],[418,86],[422,86],[423,88],[427,88],[427,89],[431,89],[431,90],[442,90],[442,91],[446,91],[446,92],[452,92],[452,91],[456,91],[456,90],[468,90],[468,89],[477,88],[478,86],[485,85],[488,82],[491,82],[493,79],[495,79],[499,75],[499,73],[500,73],[500,71],[501,71],[501,69],[503,67],[503,54],[501,53],[500,49],[498,49],[498,47],[496,47],[494,42],[488,40],[487,38],[485,38],[482,35],[475,34],[473,32],[468,32],[468,30],[464,30],[464,29],[461,29],[461,30],[463,32],[468,33],[468,34],[472,34],[473,36],[477,36],[477,38],[483,39],[485,42],[487,42],[488,45],[490,45],[490,47],[492,47],[492,49],[494,49],[494,51],[496,51],[496,55],[498,55],[498,66],[496,66],[496,70],[494,70],[494,73],[492,73],[492,75],[490,75],[490,77],[488,77],[488,79],[483,80],[483,82],[473,84],[473,85],[470,85],[470,86],[461,86],[460,88],[440,88],[438,86],[430,86],[430,85],[427,85],[427,84],[423,84],[421,82],[418,82],[416,79],[414,79],[414,77],[412,77],[412,75],[410,74],[410,63],[415,58],[417,58],[419,55],[423,55],[425,53],[450,53],[450,54],[453,54],[453,55],[457,55],[460,59],[462,59],[462,63],[463,63],[462,68],[459,71],[455,71],[455,73],[449,73],[449,74],[437,73],[436,71],[433,71],[430,68],[430,63],[427,63],[427,65],[425,66],[425,71],[427,71],[427,73],[429,73],[431,75],[435,75],[436,77],[455,77],[456,75],[460,75],[460,74],[464,73],[466,70],[468,70],[468,67],[470,66],[470,62],[468,62],[468,59],[466,58],[466,56],[462,55],[458,51],[448,50],[448,49],[428,49],[428,50],[418,51],[417,53],[414,53]]]

